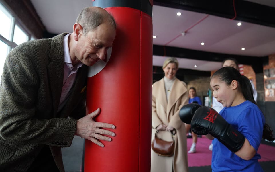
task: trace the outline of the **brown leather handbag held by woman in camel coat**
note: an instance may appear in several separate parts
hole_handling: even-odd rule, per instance
[[[158,138],[157,136],[158,132],[159,130],[156,131],[155,138],[152,141],[152,150],[160,156],[171,157],[174,154],[174,148],[175,148],[174,136],[176,134],[176,131],[175,130],[171,131],[173,141],[165,141],[165,140],[162,140],[161,138]]]

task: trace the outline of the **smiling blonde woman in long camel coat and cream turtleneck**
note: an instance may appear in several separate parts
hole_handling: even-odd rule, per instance
[[[151,172],[187,172],[187,142],[184,123],[179,111],[188,104],[186,83],[176,78],[178,60],[167,58],[162,66],[164,77],[153,84],[152,139],[156,130],[163,131],[163,140],[170,141],[171,131],[176,131],[174,155],[164,157],[151,151]],[[167,133],[165,135],[165,133]]]

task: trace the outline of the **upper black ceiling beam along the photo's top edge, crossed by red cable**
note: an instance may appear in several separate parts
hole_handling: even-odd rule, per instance
[[[154,5],[206,13],[232,19],[235,17],[233,0],[154,0]],[[249,1],[235,0],[235,20],[275,27],[275,8]]]

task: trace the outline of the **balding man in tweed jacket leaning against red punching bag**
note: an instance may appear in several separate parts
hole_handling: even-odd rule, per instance
[[[0,89],[0,171],[64,171],[61,147],[74,135],[104,147],[113,124],[85,116],[87,66],[104,60],[115,39],[104,9],[81,11],[73,33],[25,42],[7,56]],[[84,117],[83,117],[84,116]],[[77,120],[78,119],[78,120]]]

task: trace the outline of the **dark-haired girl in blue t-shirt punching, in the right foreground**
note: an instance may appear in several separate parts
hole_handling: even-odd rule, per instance
[[[191,128],[196,134],[214,139],[212,171],[263,171],[257,151],[262,138],[274,138],[256,105],[249,79],[233,67],[223,67],[213,74],[210,85],[224,108],[217,113],[199,107]]]

